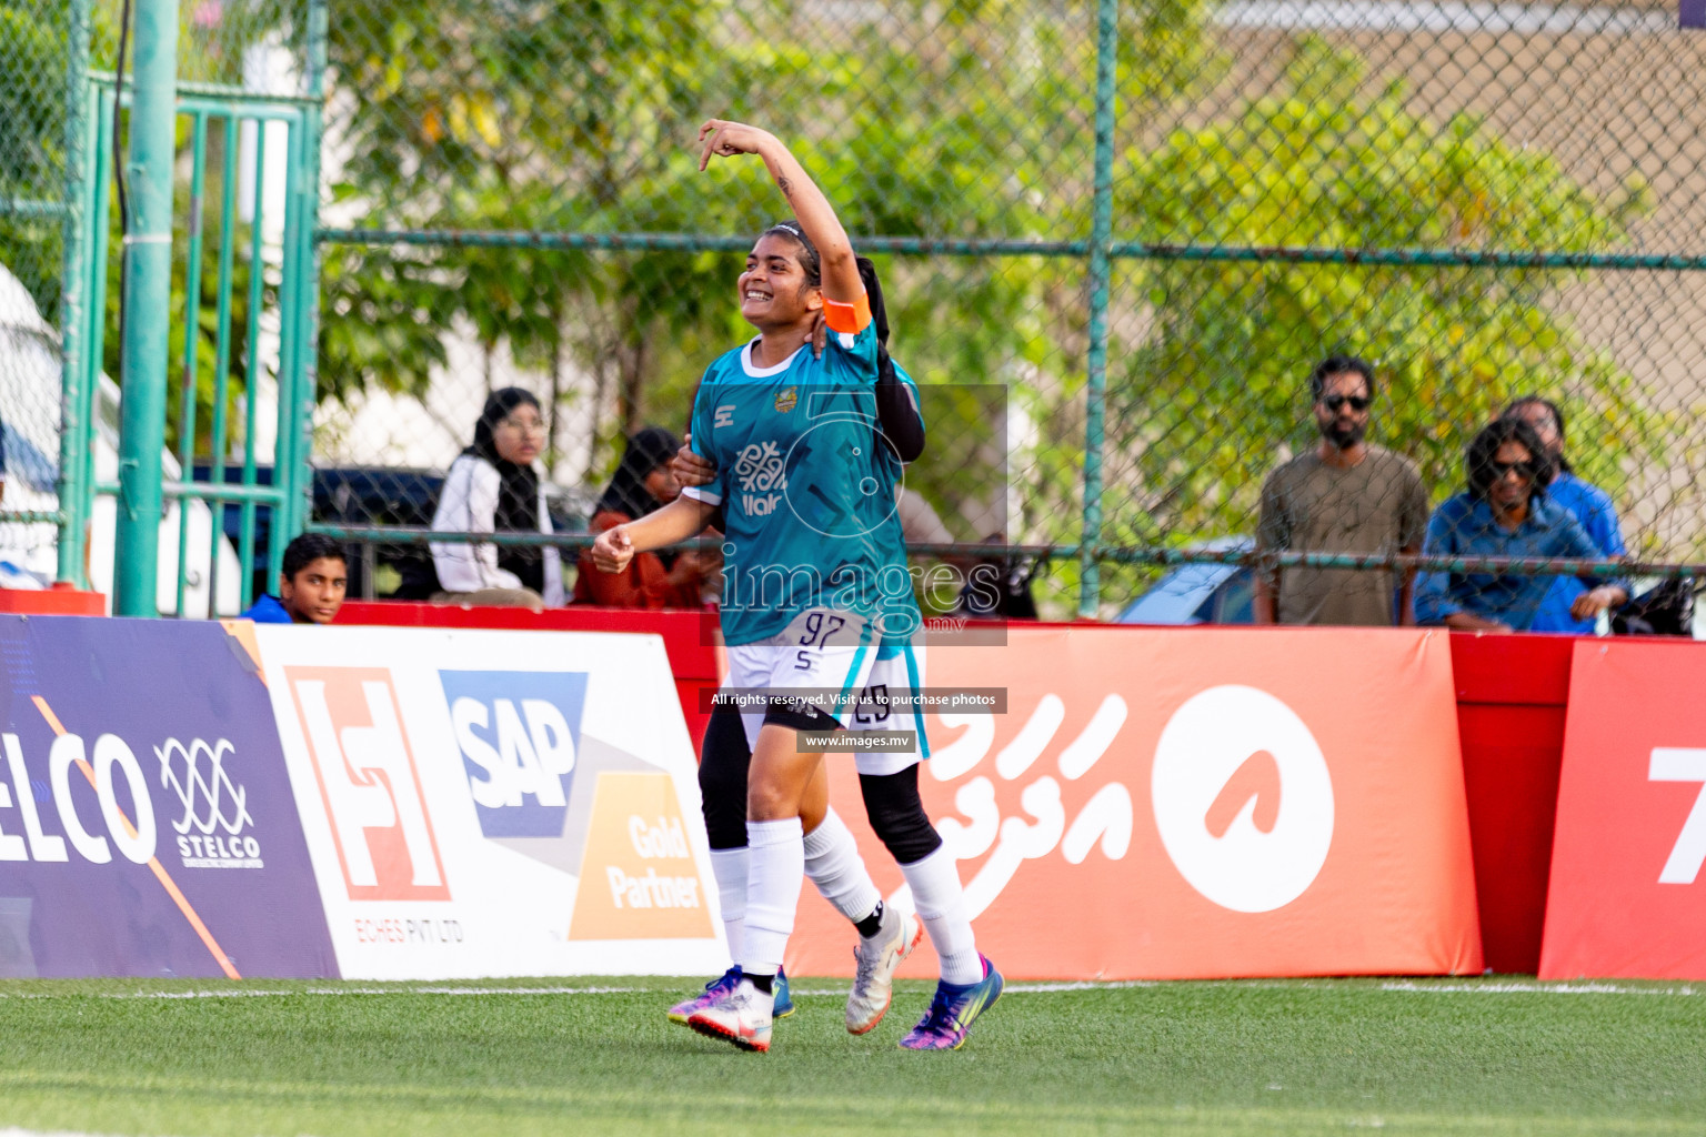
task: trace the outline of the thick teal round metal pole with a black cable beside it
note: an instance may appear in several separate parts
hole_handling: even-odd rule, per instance
[[[172,150],[177,124],[177,0],[136,2],[136,95],[130,111],[125,234],[125,399],[119,413],[113,610],[155,615],[160,448],[172,295]]]

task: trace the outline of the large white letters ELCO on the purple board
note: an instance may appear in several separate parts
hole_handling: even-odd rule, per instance
[[[148,798],[148,779],[123,738],[118,735],[96,738],[92,764],[82,736],[60,735],[53,740],[48,748],[48,788],[63,837],[46,832],[41,825],[36,793],[24,767],[24,747],[17,735],[0,736],[0,745],[5,747],[7,769],[12,774],[10,786],[0,779],[0,810],[15,808],[24,823],[22,835],[0,828],[0,861],[70,861],[67,840],[77,856],[92,864],[113,861],[113,849],[133,864],[154,859],[159,827],[154,818],[154,801]],[[78,774],[75,779],[73,767]],[[118,799],[118,776],[123,776],[128,789],[130,813]],[[101,820],[94,825],[94,832],[87,806],[80,811],[72,799],[72,786],[77,784],[89,784],[96,791]]]

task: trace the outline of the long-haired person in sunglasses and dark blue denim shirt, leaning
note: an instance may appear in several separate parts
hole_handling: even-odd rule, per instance
[[[1520,418],[1498,418],[1469,443],[1469,488],[1428,518],[1426,554],[1494,557],[1587,557],[1600,551],[1570,510],[1549,501],[1552,464],[1541,436]],[[1551,576],[1522,573],[1425,573],[1416,619],[1459,629],[1527,631]],[[1571,603],[1588,620],[1629,598],[1621,580],[1590,580]]]

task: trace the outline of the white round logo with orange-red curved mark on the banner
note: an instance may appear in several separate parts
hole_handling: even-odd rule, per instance
[[[1150,798],[1167,856],[1223,909],[1281,909],[1327,863],[1327,760],[1266,690],[1223,685],[1186,699],[1157,742]]]

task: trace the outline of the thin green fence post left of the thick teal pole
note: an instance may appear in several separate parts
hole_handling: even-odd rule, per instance
[[[89,527],[89,488],[82,479],[82,453],[89,448],[89,387],[84,382],[82,351],[89,300],[87,261],[92,242],[106,240],[94,232],[96,194],[106,186],[94,181],[94,150],[87,136],[99,116],[87,114],[94,94],[89,90],[89,10],[94,0],[72,0],[70,51],[65,61],[65,268],[60,290],[60,336],[65,344],[60,370],[60,496],[58,580],[87,585],[84,547]]]

